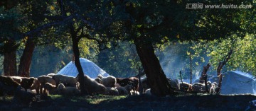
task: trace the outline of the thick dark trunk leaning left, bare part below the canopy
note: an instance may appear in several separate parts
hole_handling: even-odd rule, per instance
[[[154,54],[154,48],[151,43],[145,43],[142,39],[134,39],[139,59],[146,73],[146,79],[149,81],[151,93],[157,96],[165,96],[173,93],[171,85],[168,82],[163,69]]]

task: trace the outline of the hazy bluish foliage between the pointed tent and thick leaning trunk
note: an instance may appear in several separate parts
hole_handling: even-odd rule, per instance
[[[105,49],[97,54],[97,64],[108,74],[117,77],[136,76],[142,67],[134,45],[119,42],[114,49]]]

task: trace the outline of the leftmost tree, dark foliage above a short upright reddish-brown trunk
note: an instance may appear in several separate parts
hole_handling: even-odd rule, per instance
[[[0,7],[0,50],[4,54],[4,75],[16,76],[16,49],[19,46],[18,40],[21,40],[20,27],[23,25],[21,13],[18,8],[4,9]]]

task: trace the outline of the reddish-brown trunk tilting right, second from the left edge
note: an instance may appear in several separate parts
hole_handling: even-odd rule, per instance
[[[30,76],[31,60],[35,47],[36,46],[33,40],[28,39],[23,54],[21,56],[21,62],[18,65],[18,76]]]

